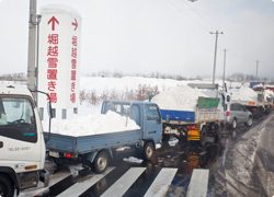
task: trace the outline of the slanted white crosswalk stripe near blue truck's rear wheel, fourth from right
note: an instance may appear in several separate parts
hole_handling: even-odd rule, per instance
[[[96,182],[99,182],[102,177],[112,172],[114,169],[115,167],[109,167],[103,174],[96,174],[89,179],[76,183],[75,185],[59,194],[58,197],[75,197],[81,195],[84,190],[93,186]]]

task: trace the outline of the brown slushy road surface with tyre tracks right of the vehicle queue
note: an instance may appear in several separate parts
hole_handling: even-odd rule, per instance
[[[209,188],[216,197],[274,196],[274,113],[254,119],[251,128],[239,127],[237,139],[225,138],[222,157]],[[210,193],[210,192],[209,192]]]

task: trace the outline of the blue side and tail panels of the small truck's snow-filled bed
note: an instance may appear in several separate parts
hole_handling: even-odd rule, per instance
[[[44,136],[47,138],[48,132],[44,132]],[[84,154],[96,149],[135,144],[140,139],[141,129],[81,137],[50,134],[50,140],[46,143],[46,148],[50,151]]]

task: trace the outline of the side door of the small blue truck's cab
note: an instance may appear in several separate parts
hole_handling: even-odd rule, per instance
[[[159,142],[162,136],[162,119],[157,105],[146,105],[145,123],[146,127],[144,129],[144,137],[151,138],[156,142]]]

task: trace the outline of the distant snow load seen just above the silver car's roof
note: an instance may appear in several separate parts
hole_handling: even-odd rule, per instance
[[[230,90],[231,101],[256,101],[258,93],[248,86]]]

